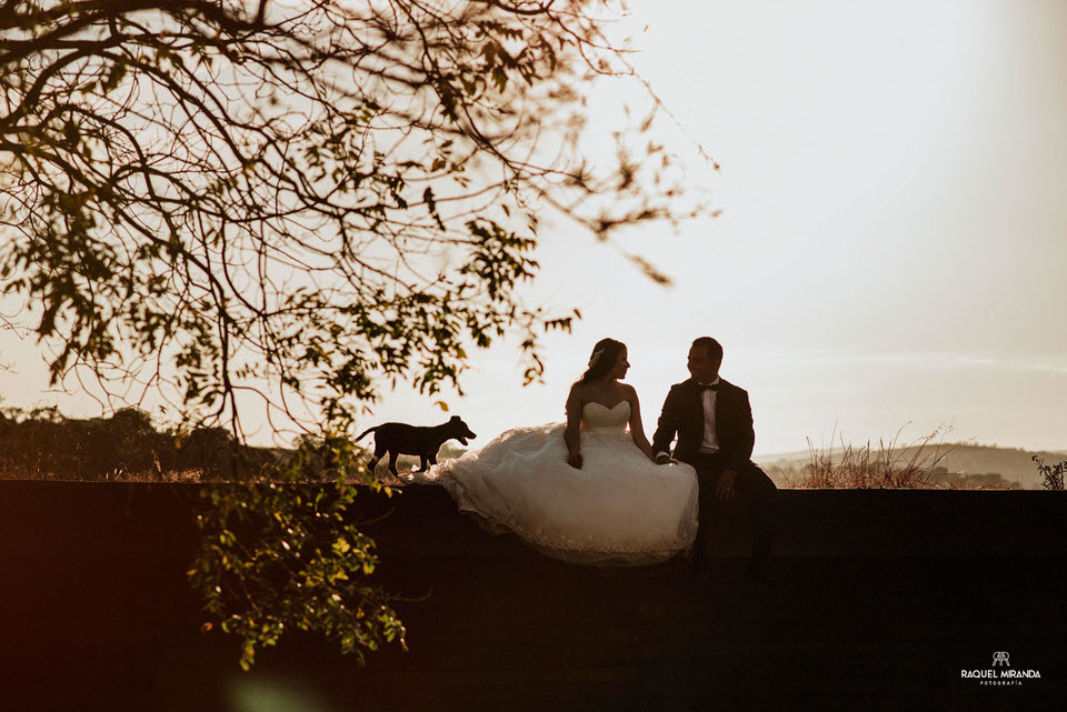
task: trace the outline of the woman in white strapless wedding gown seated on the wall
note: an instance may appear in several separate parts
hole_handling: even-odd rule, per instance
[[[510,430],[430,478],[460,511],[572,563],[640,565],[688,549],[696,472],[654,461],[637,392],[619,382],[629,367],[625,344],[599,341],[570,389],[566,424]]]

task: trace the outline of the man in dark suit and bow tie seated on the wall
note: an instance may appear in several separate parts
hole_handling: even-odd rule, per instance
[[[688,381],[670,388],[652,437],[652,452],[660,464],[670,462],[670,443],[678,435],[675,458],[697,471],[700,512],[692,545],[697,578],[707,576],[708,522],[722,503],[737,493],[752,512],[752,560],[748,574],[774,585],[767,565],[770,555],[774,507],[778,488],[749,458],[756,434],[748,393],[719,378],[722,347],[710,337],[700,337],[689,349]]]

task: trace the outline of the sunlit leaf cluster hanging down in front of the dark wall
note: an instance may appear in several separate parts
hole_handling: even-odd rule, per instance
[[[241,668],[287,630],[320,631],[360,661],[363,649],[406,645],[390,596],[369,582],[375,543],[348,520],[352,485],[235,482],[208,492],[188,573],[216,621],[206,628],[241,638]]]

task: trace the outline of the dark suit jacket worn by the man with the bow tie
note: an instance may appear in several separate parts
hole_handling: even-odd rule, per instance
[[[752,407],[748,391],[722,378],[715,399],[715,428],[724,468],[739,472],[750,462],[756,443]],[[652,452],[668,452],[676,434],[675,459],[692,464],[704,440],[704,399],[696,379],[670,387],[652,435]]]

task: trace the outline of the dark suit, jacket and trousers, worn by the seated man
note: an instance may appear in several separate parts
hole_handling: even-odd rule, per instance
[[[708,520],[721,503],[715,498],[719,478],[726,470],[737,473],[736,487],[748,500],[752,513],[752,561],[761,563],[770,554],[774,505],[778,489],[750,458],[756,433],[748,392],[721,378],[715,389],[714,432],[718,450],[707,452],[702,387],[689,379],[670,388],[664,412],[652,435],[652,452],[668,452],[678,437],[674,458],[691,464],[700,487],[700,513],[692,562],[697,570],[707,563]]]

